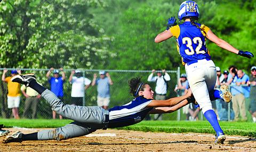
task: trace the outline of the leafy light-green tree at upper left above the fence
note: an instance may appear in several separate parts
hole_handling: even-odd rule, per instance
[[[93,21],[94,1],[3,1],[0,5],[1,61],[5,67],[104,65],[111,38]],[[95,62],[97,61],[97,62]]]

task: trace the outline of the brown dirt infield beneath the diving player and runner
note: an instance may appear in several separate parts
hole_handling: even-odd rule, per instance
[[[9,129],[14,132],[17,129]],[[19,129],[31,133],[42,129]],[[11,133],[12,133],[11,132]],[[4,137],[0,137],[2,141]],[[153,133],[98,130],[89,137],[62,141],[0,143],[0,151],[256,151],[256,138],[227,136],[224,145],[213,143],[213,134]]]

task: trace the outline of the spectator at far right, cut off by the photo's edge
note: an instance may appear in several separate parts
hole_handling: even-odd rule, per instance
[[[252,115],[252,120],[256,122],[256,66],[251,67],[251,77],[250,80],[247,82],[247,85],[250,86],[250,109],[249,112]]]

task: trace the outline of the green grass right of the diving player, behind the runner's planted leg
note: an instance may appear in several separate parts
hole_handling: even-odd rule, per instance
[[[220,122],[220,126],[227,135],[256,137],[256,124],[252,122]],[[145,132],[215,133],[207,121],[142,121],[141,123],[118,129]]]

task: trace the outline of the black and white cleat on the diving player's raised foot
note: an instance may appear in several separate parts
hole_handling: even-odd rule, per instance
[[[12,82],[18,82],[28,87],[29,82],[36,80],[35,74],[19,74],[11,78]]]

